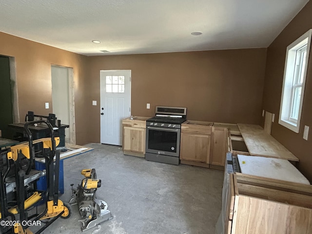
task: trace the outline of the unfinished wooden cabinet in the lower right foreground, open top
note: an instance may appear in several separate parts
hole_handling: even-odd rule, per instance
[[[311,234],[312,186],[228,174],[222,219],[226,234]]]

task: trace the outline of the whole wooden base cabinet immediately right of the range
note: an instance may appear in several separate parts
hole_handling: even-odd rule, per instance
[[[180,160],[182,164],[209,167],[211,122],[186,121],[181,124]]]

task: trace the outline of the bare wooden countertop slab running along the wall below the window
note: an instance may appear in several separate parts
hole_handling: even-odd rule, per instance
[[[251,155],[299,161],[274,137],[265,133],[261,126],[242,123],[238,123],[237,126]]]

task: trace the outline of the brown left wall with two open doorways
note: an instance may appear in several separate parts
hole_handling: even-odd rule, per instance
[[[87,57],[1,32],[0,45],[0,55],[15,58],[20,121],[24,121],[27,111],[38,115],[53,113],[51,64],[73,68],[76,141],[79,144],[87,142],[84,112],[79,111],[86,105],[83,84]],[[50,109],[45,109],[45,102],[50,103]]]

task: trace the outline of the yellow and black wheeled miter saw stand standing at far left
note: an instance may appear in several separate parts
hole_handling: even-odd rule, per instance
[[[33,124],[46,124],[51,137],[33,140]],[[59,217],[71,215],[70,205],[59,200],[59,137],[45,120],[27,122],[24,130],[28,142],[0,150],[0,234],[39,234]],[[44,158],[45,170],[36,170],[36,157]],[[42,176],[46,191],[37,189]]]

